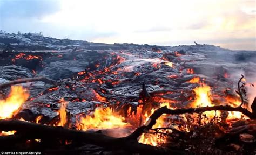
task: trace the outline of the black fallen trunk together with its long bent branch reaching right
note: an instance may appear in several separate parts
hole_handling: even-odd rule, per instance
[[[149,121],[145,125],[137,128],[131,135],[124,138],[113,138],[102,133],[95,132],[84,132],[77,130],[65,129],[62,127],[53,127],[40,125],[35,123],[23,122],[23,121],[8,121],[0,120],[0,130],[2,131],[17,131],[20,135],[25,135],[19,137],[22,139],[44,139],[44,138],[59,138],[59,139],[69,139],[75,140],[77,142],[84,142],[89,144],[95,144],[98,146],[105,147],[112,150],[125,150],[130,153],[141,153],[141,154],[183,154],[183,152],[173,151],[169,149],[163,149],[159,147],[153,147],[150,145],[138,143],[137,138],[142,135],[142,133],[149,131],[154,124],[156,124],[157,119],[163,114],[179,115],[185,113],[201,113],[205,111],[212,110],[222,110],[222,111],[239,111],[242,114],[248,116],[251,119],[255,119],[252,112],[248,111],[242,107],[230,107],[229,105],[214,106],[214,107],[201,107],[201,108],[181,108],[181,109],[168,109],[166,106],[161,107],[154,111],[150,116]],[[17,140],[17,137],[1,137],[0,143],[6,143]]]

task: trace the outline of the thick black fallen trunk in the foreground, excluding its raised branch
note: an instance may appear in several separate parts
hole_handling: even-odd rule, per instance
[[[0,130],[18,132],[18,135],[24,135],[18,137],[19,140],[28,139],[44,139],[44,138],[59,138],[70,139],[76,142],[84,142],[89,144],[95,144],[105,147],[109,150],[125,150],[130,153],[140,154],[184,154],[184,152],[173,151],[170,149],[163,149],[160,147],[154,147],[138,143],[137,140],[124,138],[113,138],[102,133],[96,132],[84,132],[78,130],[65,129],[62,127],[46,126],[41,124],[35,124],[30,122],[18,121],[18,120],[0,120]],[[15,142],[17,138],[14,135],[0,137],[0,144],[6,142]]]

